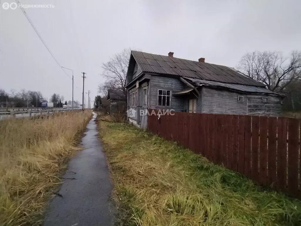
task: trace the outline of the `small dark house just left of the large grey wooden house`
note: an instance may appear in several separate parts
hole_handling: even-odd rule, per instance
[[[126,96],[120,90],[109,89],[107,102],[110,113],[126,111]]]

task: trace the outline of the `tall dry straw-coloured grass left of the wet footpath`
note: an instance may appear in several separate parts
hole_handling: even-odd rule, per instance
[[[91,111],[0,121],[0,225],[40,225]]]

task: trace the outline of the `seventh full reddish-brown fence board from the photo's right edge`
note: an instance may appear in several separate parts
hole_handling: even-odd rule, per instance
[[[238,116],[238,172],[244,174],[245,115]]]

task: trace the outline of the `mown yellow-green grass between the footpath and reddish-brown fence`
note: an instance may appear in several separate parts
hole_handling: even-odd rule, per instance
[[[296,199],[129,124],[98,126],[119,225],[301,225]]]

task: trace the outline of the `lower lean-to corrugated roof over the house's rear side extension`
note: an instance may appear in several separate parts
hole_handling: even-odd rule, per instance
[[[266,89],[265,87],[260,86],[247,86],[247,85],[240,85],[240,84],[231,84],[231,83],[222,83],[222,82],[216,82],[216,81],[208,81],[208,80],[201,80],[201,79],[195,79],[195,78],[188,78],[185,79],[189,80],[190,82],[194,83],[195,85],[204,85],[204,86],[219,86],[219,87],[225,87],[228,89],[235,89],[243,92],[248,93],[269,93],[274,95],[279,95],[278,93],[274,93],[269,89]],[[279,95],[281,96],[281,95]]]

